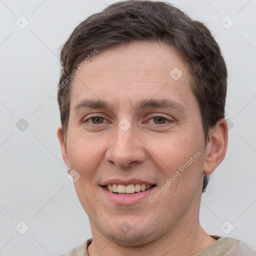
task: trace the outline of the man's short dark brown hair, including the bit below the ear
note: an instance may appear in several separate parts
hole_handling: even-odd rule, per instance
[[[159,41],[176,48],[192,78],[190,85],[199,104],[206,142],[209,128],[224,118],[227,70],[221,51],[202,22],[192,20],[168,2],[150,0],[109,5],[82,21],[63,44],[58,104],[64,140],[69,119],[70,74],[95,49],[111,49],[132,41]],[[202,191],[207,183],[205,175]]]

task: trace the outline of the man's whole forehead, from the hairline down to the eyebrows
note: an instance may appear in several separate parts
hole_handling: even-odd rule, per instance
[[[138,98],[172,100],[192,94],[190,75],[177,51],[158,42],[132,42],[100,51],[77,71],[71,108],[84,97],[130,105]]]

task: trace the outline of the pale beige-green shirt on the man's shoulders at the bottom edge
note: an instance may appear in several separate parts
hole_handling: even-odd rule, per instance
[[[194,256],[255,256],[244,243],[237,239],[214,235],[211,237],[217,240]],[[88,256],[87,247],[91,242],[92,238],[87,239],[80,246],[74,247],[60,256]]]

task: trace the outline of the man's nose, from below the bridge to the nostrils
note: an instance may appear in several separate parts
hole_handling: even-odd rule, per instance
[[[145,160],[143,145],[132,126],[126,131],[117,126],[116,134],[105,152],[105,159],[119,168],[129,168]]]

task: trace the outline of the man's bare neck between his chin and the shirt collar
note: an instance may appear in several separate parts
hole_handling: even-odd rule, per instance
[[[215,241],[204,232],[198,219],[190,218],[189,221],[183,221],[183,223],[177,224],[155,240],[136,246],[122,245],[109,240],[91,224],[93,240],[88,247],[88,255],[194,255]]]

